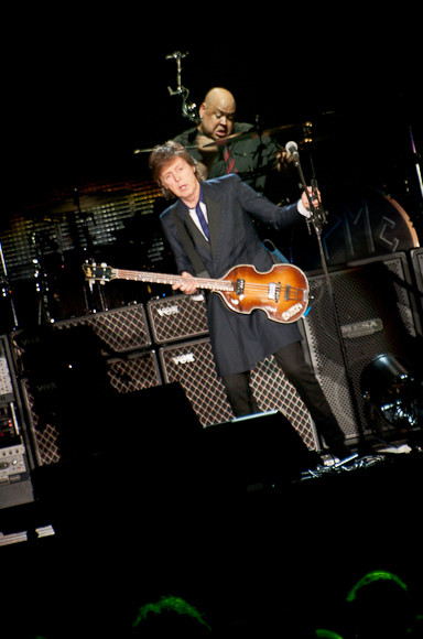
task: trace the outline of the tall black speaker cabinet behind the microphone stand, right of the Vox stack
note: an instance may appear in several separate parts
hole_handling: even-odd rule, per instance
[[[340,427],[347,437],[354,437],[359,434],[360,424],[364,432],[371,430],[371,414],[360,387],[366,366],[383,353],[412,360],[419,348],[406,258],[403,253],[394,253],[330,273],[341,342],[354,386],[352,399],[326,279],[322,274],[308,280],[313,302],[304,327],[310,357]],[[358,419],[354,398],[358,403]]]

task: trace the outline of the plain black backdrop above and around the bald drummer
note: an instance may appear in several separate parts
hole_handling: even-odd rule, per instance
[[[375,170],[370,182],[398,177],[410,170],[409,126],[421,139],[419,18],[389,11],[265,3],[9,10],[3,209],[82,180],[148,174],[147,154],[133,150],[192,126],[167,89],[176,88],[176,64],[166,59],[175,51],[188,53],[182,85],[197,106],[218,85],[235,94],[239,121],[312,120],[323,140],[323,186],[364,164]]]

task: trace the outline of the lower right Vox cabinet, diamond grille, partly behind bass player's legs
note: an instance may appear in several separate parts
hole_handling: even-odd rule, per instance
[[[203,426],[234,419],[224,385],[216,375],[208,338],[162,347],[159,358],[164,381],[181,383]],[[273,358],[252,371],[251,386],[260,410],[282,411],[306,446],[318,447],[307,409]]]

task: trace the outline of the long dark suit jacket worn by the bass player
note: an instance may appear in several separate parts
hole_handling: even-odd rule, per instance
[[[273,262],[256,232],[251,216],[283,230],[303,219],[296,204],[279,207],[257,194],[235,174],[203,182],[202,186],[210,242],[197,230],[181,201],[161,215],[163,231],[174,253],[178,272],[197,274],[178,234],[175,216],[184,224],[212,278],[224,277],[237,264],[253,264],[258,271],[269,271]],[[253,311],[250,315],[235,313],[214,293],[207,299],[207,317],[216,368],[220,376],[251,370],[282,346],[302,338],[295,323],[272,322],[261,311]]]

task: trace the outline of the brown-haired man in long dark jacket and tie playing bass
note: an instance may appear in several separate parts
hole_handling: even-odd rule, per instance
[[[163,195],[176,198],[161,214],[161,224],[182,275],[173,289],[187,294],[196,292],[195,277],[219,279],[239,264],[254,267],[260,273],[272,269],[272,258],[251,218],[283,230],[310,215],[306,194],[299,203],[280,207],[236,174],[202,182],[196,161],[174,141],[152,151],[150,167]],[[295,322],[274,322],[260,310],[235,313],[215,293],[207,299],[207,320],[216,369],[236,416],[259,412],[251,392],[250,371],[273,355],[310,410],[329,452],[338,458],[351,455],[305,361],[302,335]]]

